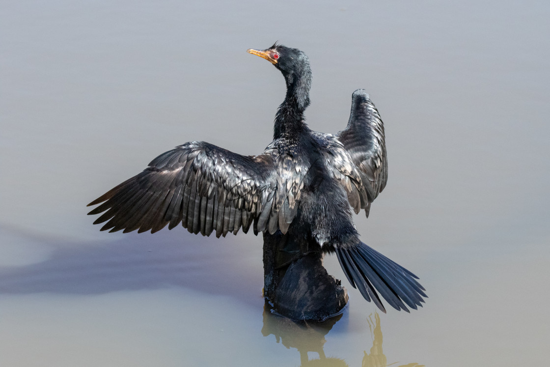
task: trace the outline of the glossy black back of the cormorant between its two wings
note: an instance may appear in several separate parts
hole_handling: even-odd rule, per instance
[[[300,195],[299,204],[295,204],[295,215],[290,203],[290,215],[286,214],[287,207],[283,207],[284,216],[288,218],[286,221],[292,221],[288,223],[288,230],[283,228],[283,231],[294,237],[314,239],[326,251],[350,240],[358,241],[348,194],[339,182],[348,180],[350,195],[357,194],[357,188],[343,173],[346,167],[353,167],[353,163],[342,143],[333,135],[306,129],[299,141],[289,144],[288,140],[279,139],[270,147],[277,157],[278,170],[289,174]],[[336,160],[338,166],[334,164]],[[360,205],[360,202],[356,204]]]

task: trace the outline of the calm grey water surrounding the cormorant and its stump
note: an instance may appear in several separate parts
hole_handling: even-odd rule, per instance
[[[534,1],[2,2],[0,365],[548,364],[548,18]],[[377,315],[329,257],[348,308],[294,324],[264,310],[261,238],[86,216],[175,145],[262,151],[284,81],[245,51],[276,40],[310,57],[313,129],[342,129],[359,87],[375,101],[389,180],[356,224],[420,276],[423,309]]]

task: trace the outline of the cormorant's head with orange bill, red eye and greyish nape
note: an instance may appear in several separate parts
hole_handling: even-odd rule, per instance
[[[277,43],[265,50],[250,48],[246,52],[265,58],[281,70],[289,92],[296,96],[300,107],[305,109],[309,105],[311,68],[309,58],[304,52]]]

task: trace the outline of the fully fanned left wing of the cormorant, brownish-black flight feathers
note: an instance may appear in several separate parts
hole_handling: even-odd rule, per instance
[[[293,217],[292,211],[279,215],[285,203],[289,207],[289,191],[278,190],[288,183],[276,176],[277,154],[268,147],[261,155],[243,156],[202,141],[186,143],[92,201],[88,206],[103,204],[89,214],[105,211],[94,224],[107,222],[101,230],[109,232],[154,233],[182,223],[189,232],[216,231],[219,237],[241,227],[248,232],[254,222],[255,233],[268,225],[274,233],[288,228]]]

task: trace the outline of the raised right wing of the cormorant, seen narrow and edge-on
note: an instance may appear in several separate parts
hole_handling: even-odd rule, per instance
[[[368,196],[368,201],[361,207],[368,217],[371,202],[386,187],[388,160],[384,124],[365,90],[353,92],[348,126],[337,137],[361,176]]]

